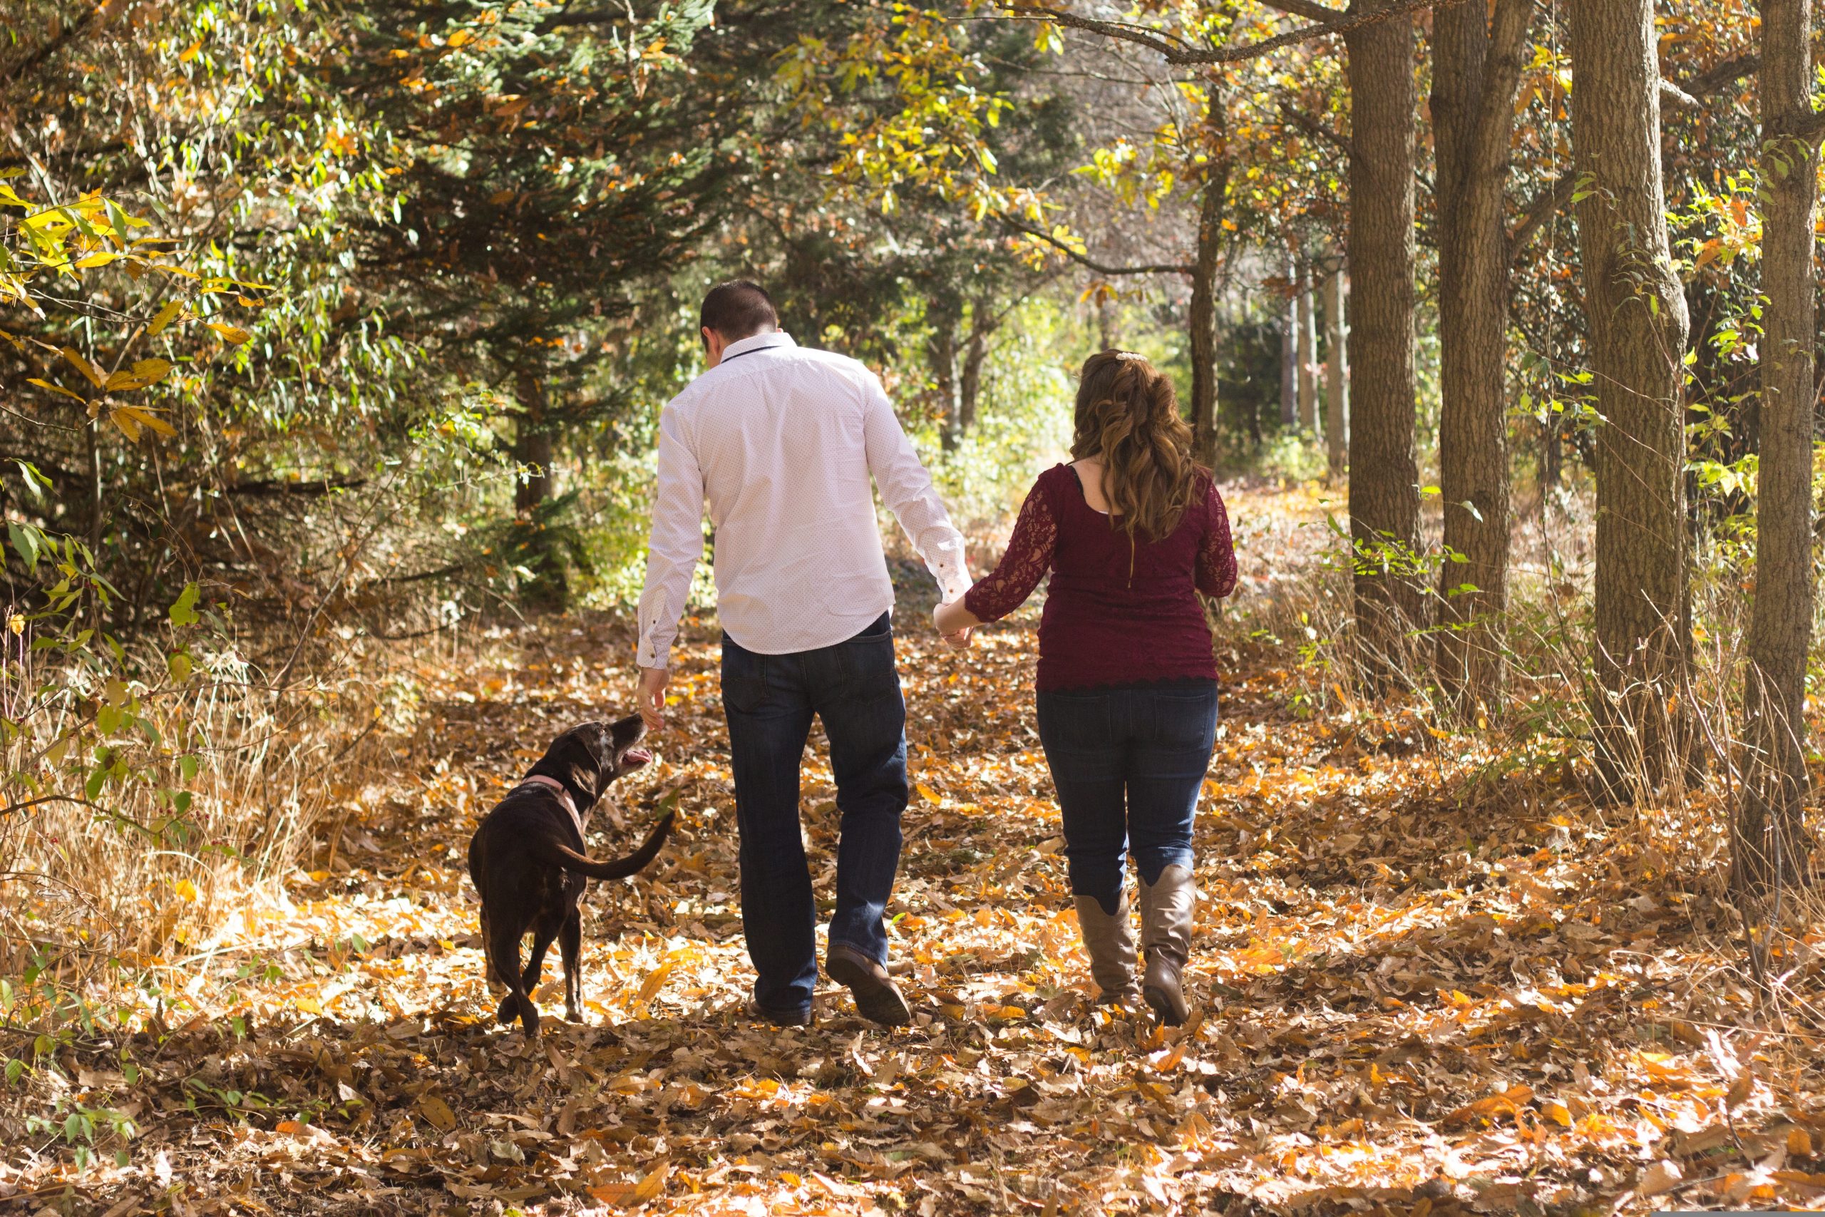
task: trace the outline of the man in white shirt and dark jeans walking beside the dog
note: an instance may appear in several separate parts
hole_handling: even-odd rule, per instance
[[[818,715],[843,817],[825,971],[865,1016],[903,1024],[911,1009],[887,976],[881,912],[907,805],[905,702],[871,474],[947,602],[969,589],[964,538],[869,369],[798,347],[754,283],[714,288],[701,323],[710,369],[659,420],[641,715],[664,726],[666,668],[708,502],[754,1011],[779,1025],[810,1022],[818,907],[799,759]]]

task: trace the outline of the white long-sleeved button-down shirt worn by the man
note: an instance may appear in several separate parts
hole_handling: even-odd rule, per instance
[[[659,418],[641,666],[670,666],[706,502],[717,617],[750,651],[832,646],[892,608],[871,474],[944,598],[962,597],[964,538],[874,372],[788,334],[730,343]]]

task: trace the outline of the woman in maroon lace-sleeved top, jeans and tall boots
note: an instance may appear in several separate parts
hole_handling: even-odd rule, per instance
[[[1084,363],[1069,465],[1038,476],[1000,566],[936,611],[965,635],[1006,617],[1051,573],[1038,624],[1046,746],[1077,920],[1102,1000],[1133,996],[1124,854],[1141,872],[1142,994],[1163,1022],[1188,1005],[1181,974],[1197,889],[1192,816],[1217,730],[1217,666],[1199,593],[1236,588],[1223,496],[1192,460],[1172,381],[1104,350]]]

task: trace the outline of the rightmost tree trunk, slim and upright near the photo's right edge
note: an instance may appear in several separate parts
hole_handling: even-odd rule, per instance
[[[1818,140],[1812,117],[1810,0],[1761,2],[1761,465],[1756,600],[1743,706],[1752,761],[1737,823],[1734,879],[1767,889],[1799,874],[1807,651],[1812,646],[1812,279]]]

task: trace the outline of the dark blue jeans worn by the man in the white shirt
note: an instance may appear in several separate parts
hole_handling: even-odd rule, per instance
[[[907,710],[889,615],[847,642],[757,655],[723,635],[723,712],[741,827],[741,925],[761,1013],[810,1011],[818,983],[818,905],[799,830],[799,761],[823,719],[843,816],[830,941],[887,963],[881,912],[900,867],[907,806]]]

